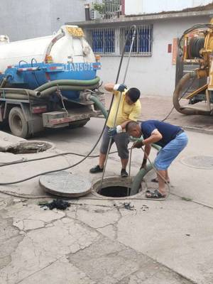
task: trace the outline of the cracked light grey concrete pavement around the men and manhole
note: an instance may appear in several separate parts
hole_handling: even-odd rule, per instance
[[[92,119],[82,129],[42,133],[37,138],[55,143],[55,148],[37,154],[0,153],[1,162],[63,151],[86,154],[103,123],[103,119]],[[1,140],[4,135],[1,133]],[[1,283],[212,284],[212,168],[195,168],[185,161],[197,155],[212,157],[213,136],[192,131],[187,135],[187,148],[170,168],[172,194],[165,201],[143,200],[143,195],[131,200],[107,200],[89,194],[70,200],[70,209],[62,212],[41,209],[38,199],[1,193]],[[94,154],[98,152],[97,148]],[[155,154],[153,150],[151,160]],[[138,172],[142,158],[142,151],[133,151],[132,175]],[[63,168],[78,160],[78,156],[67,155],[45,163],[0,168],[1,182]],[[91,175],[89,168],[96,164],[97,158],[89,158],[70,172],[86,175],[94,182],[101,174]],[[119,158],[110,155],[106,176],[119,173]],[[144,185],[155,187],[150,182],[154,176],[153,172],[146,175]],[[46,195],[38,178],[0,188]],[[134,210],[125,209],[124,201],[131,202]]]

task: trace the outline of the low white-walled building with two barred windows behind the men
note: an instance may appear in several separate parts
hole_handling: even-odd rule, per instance
[[[120,9],[119,17],[114,13],[111,18],[101,15],[93,21],[69,23],[81,26],[94,53],[101,55],[102,70],[99,71],[99,76],[104,82],[116,80],[126,35],[131,25],[135,24],[137,36],[126,77],[127,86],[138,87],[144,95],[172,96],[175,89],[178,38],[183,31],[196,23],[209,23],[213,15],[212,1],[170,1],[170,3],[174,2],[176,6],[169,4],[169,9],[172,11],[162,12],[161,10],[167,9],[167,6],[165,5],[159,10],[159,5],[151,5],[156,2],[155,0],[131,0],[132,4],[138,2],[138,4],[143,4],[143,9],[146,8],[139,15],[136,15],[139,11],[138,5],[131,5],[131,9],[135,10],[130,12],[129,1],[121,1],[123,6]],[[166,4],[168,1],[160,2]],[[185,2],[188,4],[186,5]],[[150,8],[148,8],[148,3]],[[207,6],[195,8],[195,4],[207,4]],[[152,11],[153,13],[147,14],[143,11]],[[161,12],[155,13],[155,11]],[[131,16],[122,15],[122,13],[129,13]],[[132,13],[134,14],[132,15]],[[129,53],[130,45],[131,40],[128,40],[125,55]],[[125,68],[126,56],[119,82],[124,79]]]

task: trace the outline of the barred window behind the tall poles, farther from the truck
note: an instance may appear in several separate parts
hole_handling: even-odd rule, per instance
[[[142,25],[137,26],[137,33],[136,33],[136,39],[133,43],[133,54],[138,55],[152,55],[152,34],[153,28],[151,25]],[[121,28],[120,30],[120,53],[123,50],[124,43],[126,40],[126,36],[129,32],[129,27]],[[133,37],[133,30],[131,30],[131,36],[129,37],[129,40],[127,40],[126,46],[125,46],[125,53],[129,53],[130,47],[131,47],[131,39]]]

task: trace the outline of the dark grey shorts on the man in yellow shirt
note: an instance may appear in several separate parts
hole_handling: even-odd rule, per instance
[[[106,126],[103,133],[102,138],[102,145],[100,148],[100,152],[104,155],[107,154],[108,146],[110,137],[108,134],[109,127]],[[111,140],[111,145],[113,143],[116,143],[116,147],[119,153],[119,157],[121,159],[128,159],[129,158],[129,150],[128,150],[128,144],[129,144],[129,135],[126,132],[117,133]],[[111,147],[111,146],[110,146]]]

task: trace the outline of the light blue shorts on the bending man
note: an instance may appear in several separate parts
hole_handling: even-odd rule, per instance
[[[157,170],[167,170],[173,160],[175,160],[185,146],[187,146],[187,143],[188,138],[185,132],[176,136],[158,152],[154,161],[155,168]]]

